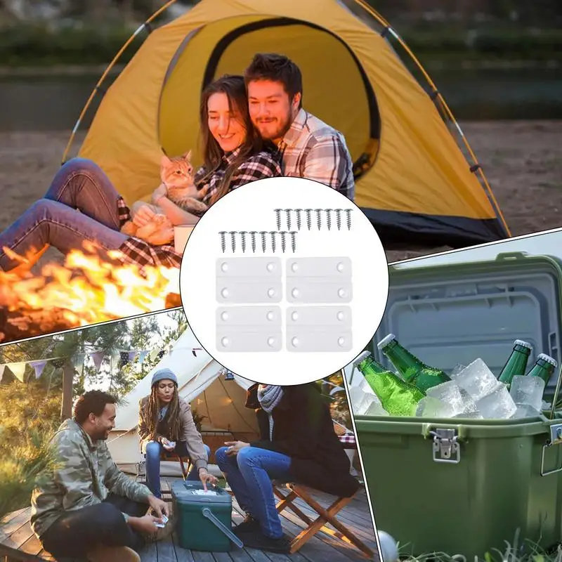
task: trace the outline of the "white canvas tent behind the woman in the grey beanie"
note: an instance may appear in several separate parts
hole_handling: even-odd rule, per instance
[[[150,394],[152,374],[164,367],[178,377],[178,391],[200,416],[202,433],[225,431],[236,433],[257,433],[256,414],[244,407],[246,390],[252,384],[235,375],[227,381],[221,375],[223,367],[204,350],[195,351],[201,345],[188,327],[178,338],[174,347],[164,355],[158,365],[144,379],[124,396],[124,403],[117,407],[115,429],[110,433],[107,445],[117,464],[136,464],[143,460],[139,449],[137,431],[138,402]],[[179,469],[178,463],[162,463],[164,469]]]

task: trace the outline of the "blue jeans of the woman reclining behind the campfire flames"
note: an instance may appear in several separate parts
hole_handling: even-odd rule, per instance
[[[119,194],[103,170],[84,158],[69,160],[53,178],[43,199],[34,202],[15,222],[0,233],[0,269],[10,270],[18,261],[4,247],[25,255],[45,244],[63,254],[83,249],[89,240],[102,259],[117,250],[127,236],[119,232]]]

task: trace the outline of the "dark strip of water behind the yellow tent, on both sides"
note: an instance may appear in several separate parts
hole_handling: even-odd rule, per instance
[[[560,69],[430,69],[429,74],[459,121],[562,119]],[[0,78],[0,131],[72,129],[100,75]],[[96,94],[80,129],[89,127],[101,99]]]

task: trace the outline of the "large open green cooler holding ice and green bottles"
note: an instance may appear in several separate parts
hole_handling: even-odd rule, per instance
[[[420,262],[423,263],[423,262]],[[561,262],[550,256],[390,268],[386,312],[372,341],[393,333],[450,373],[482,358],[498,376],[515,339],[561,363]],[[351,370],[351,365],[346,371]],[[349,375],[348,375],[349,376]],[[353,378],[361,377],[355,370]],[[545,400],[558,395],[558,370]],[[499,557],[518,542],[562,540],[562,419],[355,417],[377,527],[405,554]]]

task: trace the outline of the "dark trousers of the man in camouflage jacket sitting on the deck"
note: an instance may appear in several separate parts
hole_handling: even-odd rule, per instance
[[[145,540],[129,527],[123,513],[142,517],[147,511],[148,504],[110,494],[100,504],[66,511],[44,532],[41,542],[57,559],[84,556],[98,544],[129,547],[138,552]]]

